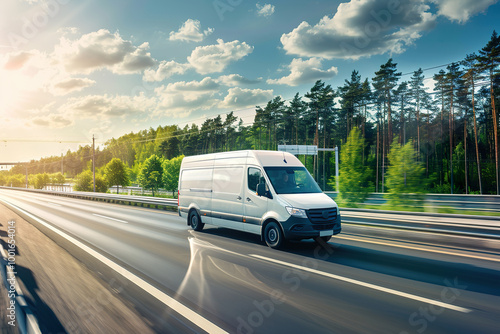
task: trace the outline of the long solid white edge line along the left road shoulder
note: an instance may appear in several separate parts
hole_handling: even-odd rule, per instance
[[[15,208],[16,210],[21,211],[23,214],[27,215],[31,219],[36,220],[37,222],[39,222],[43,226],[45,226],[48,229],[52,230],[53,232],[59,234],[61,237],[65,238],[66,240],[70,241],[75,246],[80,247],[82,250],[87,252],[89,255],[95,257],[97,260],[101,261],[102,263],[104,263],[105,265],[107,265],[108,267],[110,267],[111,269],[113,269],[114,271],[116,271],[117,273],[119,273],[120,275],[125,277],[126,279],[128,279],[130,282],[134,283],[135,285],[137,285],[138,287],[140,287],[141,289],[143,289],[144,291],[149,293],[151,296],[158,299],[160,302],[165,304],[167,307],[173,309],[175,312],[179,313],[184,318],[186,318],[188,321],[191,321],[193,324],[200,327],[201,329],[203,329],[207,333],[229,334],[228,332],[226,332],[225,330],[223,330],[222,328],[220,328],[216,324],[210,322],[210,320],[205,319],[204,317],[202,317],[201,315],[199,315],[195,311],[191,310],[190,308],[188,308],[184,304],[182,304],[179,301],[175,300],[174,298],[170,297],[169,295],[167,295],[163,291],[155,288],[154,286],[152,286],[148,282],[144,281],[142,278],[134,275],[133,273],[131,273],[127,269],[121,267],[120,265],[111,261],[110,259],[108,259],[104,255],[96,252],[92,248],[90,248],[87,245],[83,244],[82,242],[76,240],[72,236],[64,233],[63,231],[57,229],[56,227],[50,225],[49,223],[46,223],[45,221],[41,220],[40,218],[35,217],[31,213],[18,207],[17,205],[9,203],[8,201],[5,201],[3,199],[0,199],[0,201],[4,202],[7,205],[10,205],[11,207]]]

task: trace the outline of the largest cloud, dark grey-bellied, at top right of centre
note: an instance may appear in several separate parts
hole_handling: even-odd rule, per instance
[[[333,17],[311,26],[302,22],[281,36],[288,54],[302,57],[359,59],[398,54],[435,26],[424,0],[351,0],[341,3]]]

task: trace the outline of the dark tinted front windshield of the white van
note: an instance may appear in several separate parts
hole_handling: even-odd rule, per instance
[[[305,167],[264,167],[277,194],[320,193]]]

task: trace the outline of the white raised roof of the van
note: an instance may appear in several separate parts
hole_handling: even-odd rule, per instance
[[[254,159],[254,163],[261,166],[272,167],[272,166],[291,166],[291,167],[302,167],[302,163],[294,155],[288,152],[281,151],[263,151],[263,150],[244,150],[244,151],[230,151],[230,152],[220,152],[220,153],[210,153],[203,155],[195,155],[190,157],[185,157],[182,161],[183,164],[202,162],[202,161],[217,161],[226,159],[235,159],[237,161],[246,160],[247,163],[251,163]],[[253,159],[252,159],[253,158]],[[229,161],[228,161],[229,162]]]

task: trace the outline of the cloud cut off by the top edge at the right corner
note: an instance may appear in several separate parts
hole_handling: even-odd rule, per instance
[[[431,0],[439,10],[438,14],[451,21],[465,23],[471,16],[484,12],[498,0]]]

